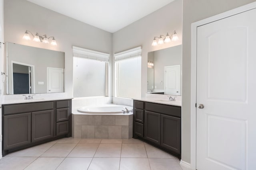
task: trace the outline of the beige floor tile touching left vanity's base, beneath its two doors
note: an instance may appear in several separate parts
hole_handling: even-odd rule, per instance
[[[23,149],[23,150],[20,150],[17,152],[13,152],[6,156],[7,157],[9,157],[9,156],[39,157],[46,150],[48,150],[50,147],[52,147],[52,145],[54,145],[54,143],[45,143],[45,144],[31,147],[28,149]]]

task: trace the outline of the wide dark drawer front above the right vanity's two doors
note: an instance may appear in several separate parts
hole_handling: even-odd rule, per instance
[[[145,109],[147,111],[154,111],[156,113],[163,113],[166,115],[181,117],[181,107],[180,106],[168,106],[168,105],[164,105],[164,104],[155,104],[155,103],[146,102]]]

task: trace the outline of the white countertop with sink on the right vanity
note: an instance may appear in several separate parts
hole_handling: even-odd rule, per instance
[[[169,101],[168,96],[174,95],[162,95],[162,94],[146,94],[146,97],[142,98],[134,98],[133,100],[140,100],[144,102],[152,102],[152,103],[159,103],[159,104],[167,104],[172,106],[181,106],[182,96],[176,96],[176,101]]]

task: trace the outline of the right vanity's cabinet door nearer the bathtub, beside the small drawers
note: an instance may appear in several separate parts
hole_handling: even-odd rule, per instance
[[[161,114],[145,111],[144,138],[160,145]]]

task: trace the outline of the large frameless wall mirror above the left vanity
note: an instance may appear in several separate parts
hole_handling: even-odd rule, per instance
[[[6,44],[7,94],[64,92],[64,52]]]

